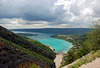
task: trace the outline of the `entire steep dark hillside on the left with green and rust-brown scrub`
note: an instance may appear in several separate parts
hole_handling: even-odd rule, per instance
[[[27,68],[33,64],[42,68],[55,68],[53,61],[55,53],[48,47],[43,47],[45,49],[0,26],[0,67],[2,68]]]

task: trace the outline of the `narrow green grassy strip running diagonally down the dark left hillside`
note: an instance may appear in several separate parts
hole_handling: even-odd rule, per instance
[[[41,54],[37,54],[36,52],[33,52],[28,48],[23,48],[23,47],[19,46],[18,44],[15,44],[15,43],[13,43],[11,41],[8,41],[8,40],[6,40],[6,39],[4,39],[2,37],[0,37],[0,41],[2,41],[3,43],[7,43],[8,47],[10,47],[10,48],[13,48],[13,49],[21,51],[23,53],[27,53],[28,55],[34,56],[34,57],[36,57],[36,58],[38,58],[40,60],[45,61],[47,64],[53,63],[53,60],[48,59],[47,57],[45,57],[45,56],[43,56]]]

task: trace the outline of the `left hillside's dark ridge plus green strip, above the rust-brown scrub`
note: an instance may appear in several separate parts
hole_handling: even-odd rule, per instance
[[[29,41],[30,40],[27,41],[8,29],[0,26],[1,43],[5,44],[8,48],[26,53],[37,60],[43,61],[44,64],[47,64],[50,67],[55,67],[55,63],[53,61],[55,58],[55,53],[49,47],[46,47],[39,42],[36,42],[35,45],[34,43],[32,44],[33,41]]]

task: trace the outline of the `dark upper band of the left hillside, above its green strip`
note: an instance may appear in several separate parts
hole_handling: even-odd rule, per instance
[[[49,53],[48,51],[44,51],[44,49],[32,44],[31,42],[28,42],[27,40],[14,34],[13,32],[7,30],[6,28],[3,28],[2,26],[0,26],[0,36],[4,39],[7,39],[8,41],[12,41],[13,43],[20,45],[23,48],[26,48],[30,51],[34,51],[40,55],[43,55],[48,59],[54,60],[55,58],[55,53],[53,51],[51,53]]]

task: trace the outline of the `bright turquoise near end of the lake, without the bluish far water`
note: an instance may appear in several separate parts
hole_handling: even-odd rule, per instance
[[[38,40],[43,44],[50,45],[56,52],[64,52],[66,53],[69,48],[72,46],[71,43],[66,42],[64,40],[49,38],[44,40]]]

